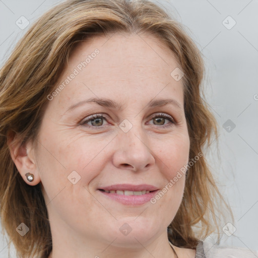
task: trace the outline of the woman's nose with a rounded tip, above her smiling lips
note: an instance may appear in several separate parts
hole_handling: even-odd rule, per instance
[[[137,172],[150,169],[155,164],[148,138],[139,130],[120,131],[116,140],[119,144],[113,155],[113,164],[117,168]]]

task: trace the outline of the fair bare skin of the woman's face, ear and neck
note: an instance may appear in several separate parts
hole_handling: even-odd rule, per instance
[[[101,35],[74,49],[54,89],[96,48],[100,53],[48,101],[37,146],[28,142],[11,150],[26,183],[42,185],[53,241],[49,257],[175,257],[167,226],[182,201],[183,173],[155,204],[126,206],[97,189],[116,183],[162,189],[187,164],[183,84],[170,76],[179,66],[173,52],[152,35]],[[121,110],[85,103],[67,111],[93,97],[119,102]],[[182,108],[147,107],[152,99],[164,98]],[[160,113],[176,123],[152,118]],[[107,118],[80,124],[92,114]],[[133,126],[127,133],[119,127],[124,119]],[[101,128],[98,123],[103,123]],[[32,182],[26,179],[28,171],[34,174]],[[81,176],[76,184],[68,180],[72,171]],[[119,230],[124,223],[132,228],[126,236]],[[174,248],[179,258],[195,257],[195,250]]]

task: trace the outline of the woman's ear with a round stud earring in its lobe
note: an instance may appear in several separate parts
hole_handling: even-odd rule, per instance
[[[29,185],[38,184],[40,182],[40,176],[36,164],[33,142],[28,141],[21,145],[18,134],[12,132],[9,133],[7,144],[11,157],[24,181]],[[31,182],[26,177],[28,172],[34,176],[34,180]]]

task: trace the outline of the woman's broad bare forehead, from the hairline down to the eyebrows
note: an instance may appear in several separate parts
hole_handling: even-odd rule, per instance
[[[71,52],[56,86],[72,74],[76,76],[58,94],[58,99],[69,102],[86,96],[126,95],[137,101],[136,96],[153,98],[173,93],[182,100],[182,82],[170,75],[178,67],[172,50],[153,35],[93,36]]]

